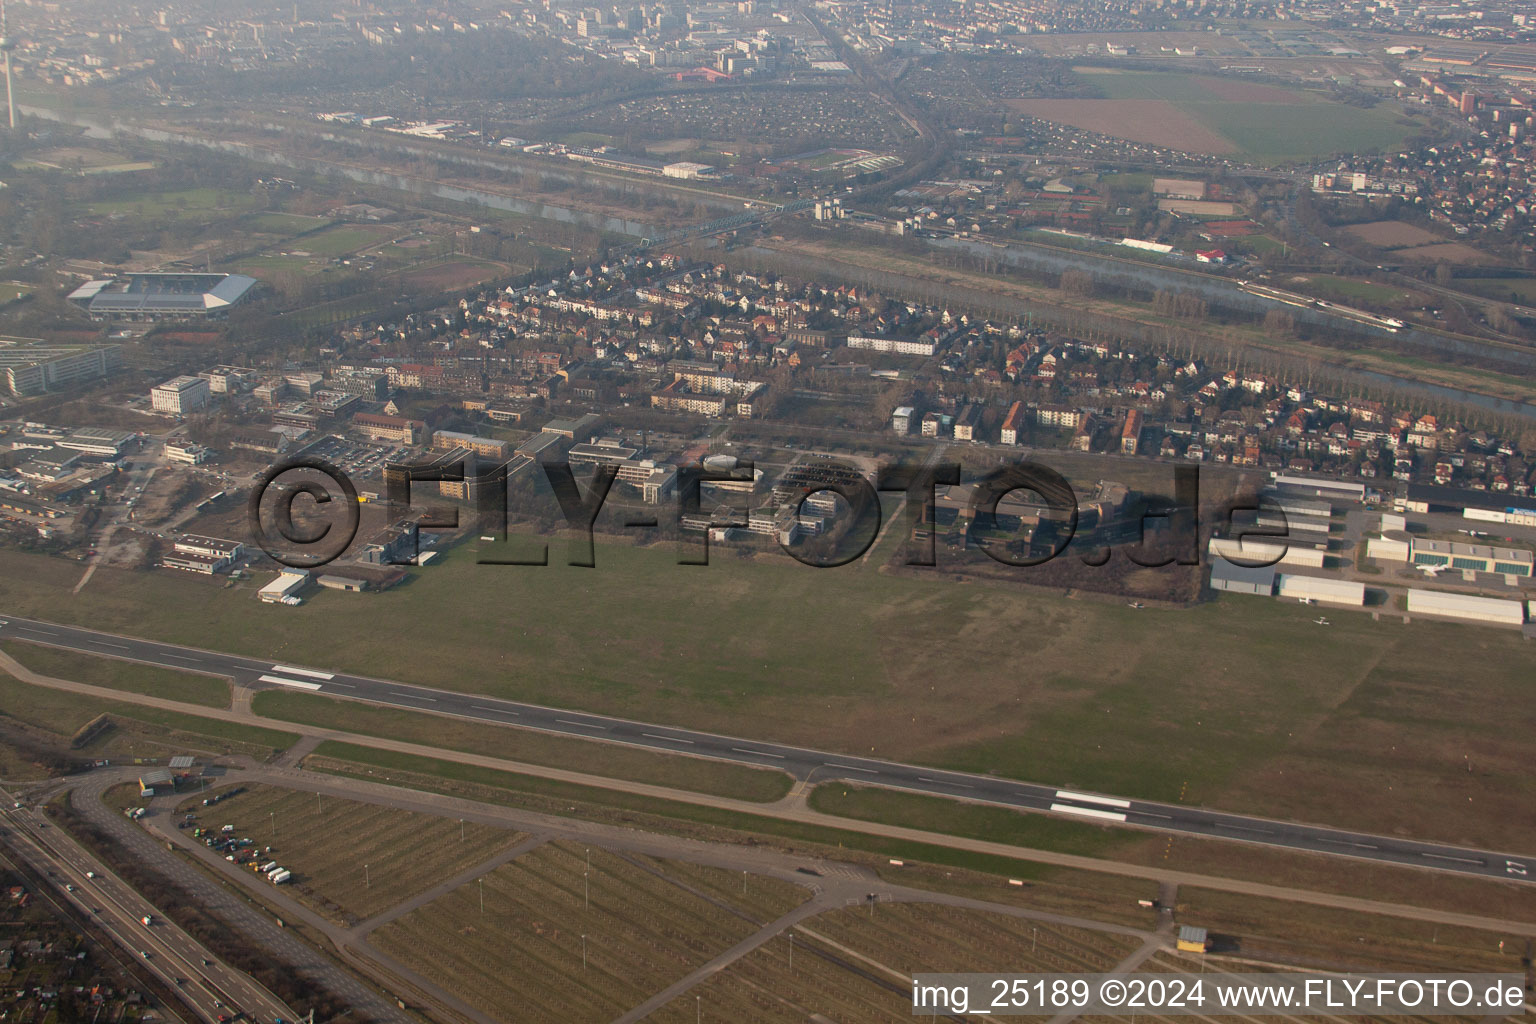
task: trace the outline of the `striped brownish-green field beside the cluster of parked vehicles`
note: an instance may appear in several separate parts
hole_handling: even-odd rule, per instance
[[[217,792],[217,791],[209,791]],[[293,872],[289,889],[339,924],[355,924],[484,863],[525,838],[510,829],[372,803],[252,786],[214,808],[181,801],[198,824],[233,824]]]

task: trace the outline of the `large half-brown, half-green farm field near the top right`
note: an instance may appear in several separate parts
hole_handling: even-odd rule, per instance
[[[1258,81],[1175,72],[1091,74],[1097,100],[1009,100],[1029,117],[1184,152],[1281,163],[1401,143],[1413,126],[1382,103],[1361,109]]]

